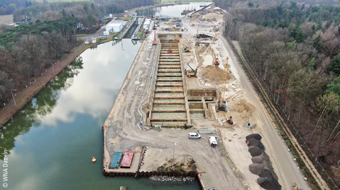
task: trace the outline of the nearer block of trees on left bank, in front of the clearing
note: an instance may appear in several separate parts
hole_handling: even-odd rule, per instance
[[[0,101],[40,70],[60,59],[75,44],[77,18],[23,23],[0,34]],[[1,104],[3,105],[3,104]]]

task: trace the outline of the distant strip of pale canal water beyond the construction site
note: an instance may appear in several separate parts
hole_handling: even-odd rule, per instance
[[[185,9],[192,10],[193,8],[198,11],[202,7],[212,4],[212,2],[197,2],[190,4],[180,4],[180,5],[172,5],[172,6],[160,6],[154,8],[147,8],[141,11],[137,11],[138,16],[170,16],[170,17],[182,17],[182,11]]]

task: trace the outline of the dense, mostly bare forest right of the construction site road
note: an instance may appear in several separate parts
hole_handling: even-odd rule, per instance
[[[340,7],[280,2],[231,6],[225,34],[238,40],[287,119],[340,183]]]

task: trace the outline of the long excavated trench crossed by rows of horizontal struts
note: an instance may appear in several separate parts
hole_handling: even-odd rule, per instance
[[[150,112],[151,126],[176,126],[187,124],[185,90],[178,40],[160,40],[160,54],[153,105]]]

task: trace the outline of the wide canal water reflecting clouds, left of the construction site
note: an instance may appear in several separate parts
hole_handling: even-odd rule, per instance
[[[0,163],[8,159],[7,189],[199,189],[197,183],[153,185],[148,178],[102,174],[102,124],[140,47],[124,39],[87,49],[82,61],[68,66],[6,124]]]

